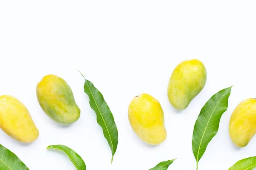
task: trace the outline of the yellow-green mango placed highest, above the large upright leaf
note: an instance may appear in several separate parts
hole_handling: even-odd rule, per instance
[[[169,102],[178,110],[189,106],[204,88],[207,71],[198,59],[181,62],[172,72],[169,80],[167,95]]]

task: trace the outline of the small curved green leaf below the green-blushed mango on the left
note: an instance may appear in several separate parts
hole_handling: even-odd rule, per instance
[[[67,154],[69,159],[73,162],[77,170],[86,170],[86,166],[84,163],[84,160],[79,156],[74,150],[70,149],[69,147],[65,145],[50,145],[47,147],[47,149],[56,149],[56,150],[61,150],[64,153]]]

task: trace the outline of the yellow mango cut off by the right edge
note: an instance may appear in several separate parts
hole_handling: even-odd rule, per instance
[[[229,134],[238,147],[245,147],[256,133],[256,99],[245,99],[230,117]]]

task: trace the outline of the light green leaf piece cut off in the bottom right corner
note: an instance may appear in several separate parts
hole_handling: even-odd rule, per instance
[[[253,170],[256,167],[256,156],[242,159],[228,170]]]

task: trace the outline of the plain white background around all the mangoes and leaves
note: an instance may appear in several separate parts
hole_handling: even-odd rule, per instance
[[[30,170],[75,170],[67,156],[46,150],[50,144],[75,150],[88,170],[148,170],[174,158],[170,170],[195,170],[195,120],[213,94],[234,85],[199,170],[227,170],[256,156],[256,138],[237,148],[228,134],[236,105],[256,97],[255,8],[255,0],[0,0],[0,94],[20,99],[40,131],[37,141],[22,144],[0,130],[0,144]],[[207,83],[178,112],[169,104],[167,84],[175,66],[193,58],[204,62]],[[77,69],[113,112],[119,130],[113,164]],[[41,110],[35,89],[47,74],[71,86],[81,108],[73,125],[59,125]],[[165,113],[168,137],[158,146],[142,142],[128,122],[129,102],[141,93],[157,98]]]

